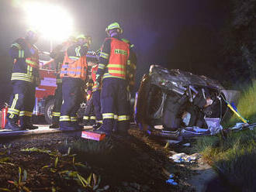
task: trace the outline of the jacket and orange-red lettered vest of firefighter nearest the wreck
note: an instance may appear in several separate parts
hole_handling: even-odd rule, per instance
[[[115,77],[125,80],[127,60],[130,57],[130,45],[113,37],[106,38],[105,43],[109,41],[109,53],[104,52],[104,46],[106,45],[103,44],[103,49],[99,57],[99,70],[97,72],[97,76],[101,77],[102,70],[104,70],[103,79]],[[106,61],[107,64],[103,63],[104,61]]]

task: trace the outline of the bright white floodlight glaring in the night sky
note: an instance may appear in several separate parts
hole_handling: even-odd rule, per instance
[[[41,2],[26,2],[23,5],[29,26],[38,29],[43,37],[62,41],[71,36],[71,16],[61,7]]]

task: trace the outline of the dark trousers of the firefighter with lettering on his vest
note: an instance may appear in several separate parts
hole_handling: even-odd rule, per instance
[[[114,118],[117,115],[117,131],[123,132],[127,127],[127,93],[126,81],[119,78],[105,78],[102,81],[102,129],[111,134],[114,128]]]

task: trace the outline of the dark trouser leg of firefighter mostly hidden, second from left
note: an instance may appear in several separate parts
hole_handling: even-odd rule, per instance
[[[58,125],[61,116],[62,105],[62,83],[57,84],[57,88],[54,93],[54,108],[53,108],[53,124]]]

